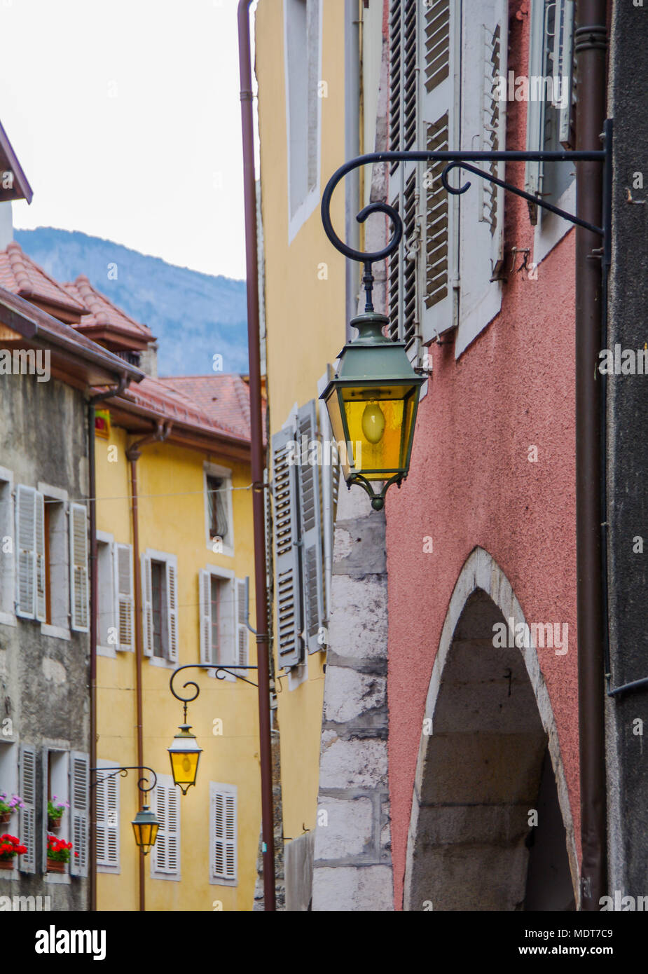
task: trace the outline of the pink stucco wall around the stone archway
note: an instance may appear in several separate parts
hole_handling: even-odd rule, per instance
[[[511,6],[509,67],[519,73],[527,60],[525,7]],[[508,148],[524,147],[525,108],[508,106]],[[523,186],[523,164],[511,165],[507,178]],[[532,246],[526,204],[507,195],[506,207],[507,244]],[[527,620],[569,625],[567,655],[539,656],[580,844],[573,232],[540,264],[537,281],[510,278],[502,313],[458,360],[452,344],[432,349],[434,378],[419,407],[410,473],[386,504],[397,909],[430,676],[452,590],[476,545],[511,581]],[[528,460],[531,444],[537,463]],[[423,550],[426,536],[432,553]]]

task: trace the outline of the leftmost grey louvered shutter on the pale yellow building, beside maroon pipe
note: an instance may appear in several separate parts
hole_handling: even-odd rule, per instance
[[[272,437],[278,657],[284,667],[296,666],[303,658],[297,469],[287,461],[288,443],[294,437],[293,429]]]

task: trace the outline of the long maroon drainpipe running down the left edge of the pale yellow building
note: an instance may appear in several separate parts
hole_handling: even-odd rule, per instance
[[[261,760],[261,836],[263,853],[263,906],[276,910],[275,836],[270,734],[270,665],[268,593],[265,565],[265,490],[263,423],[261,411],[261,349],[259,340],[259,285],[256,242],[256,184],[254,178],[254,119],[252,67],[249,53],[249,7],[239,0],[239,67],[243,130],[243,180],[246,203],[246,279],[248,282],[249,426],[254,529],[254,594],[256,597],[256,661],[258,665],[259,754]]]

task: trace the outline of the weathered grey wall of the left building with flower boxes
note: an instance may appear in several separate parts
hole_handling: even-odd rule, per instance
[[[39,481],[67,491],[70,500],[88,497],[88,443],[84,395],[57,379],[0,376],[0,466],[14,473],[14,489]],[[0,555],[3,557],[3,555]],[[41,623],[17,618],[0,624],[0,714],[9,714],[19,743],[37,749],[37,796],[43,795],[44,742],[70,751],[90,750],[90,637],[71,633],[70,640],[46,636]],[[5,740],[7,738],[5,737]],[[4,745],[0,745],[4,746]],[[0,790],[2,782],[0,781]],[[0,896],[50,896],[53,910],[87,910],[88,880],[69,884],[44,878],[40,837],[42,808],[36,815],[36,874],[10,881],[0,874]],[[4,831],[4,830],[3,830]],[[61,838],[70,840],[71,836]]]

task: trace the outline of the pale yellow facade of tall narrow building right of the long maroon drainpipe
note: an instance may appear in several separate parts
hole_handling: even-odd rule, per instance
[[[300,441],[298,411],[313,400],[319,426],[318,383],[345,341],[345,263],[328,243],[320,216],[326,180],[344,162],[344,0],[260,0],[255,40],[266,360],[275,448],[283,428]],[[334,225],[343,228],[343,191],[336,194],[331,215]],[[322,435],[321,428],[313,435]],[[318,472],[326,475],[324,468]],[[276,490],[274,507],[277,533]],[[324,549],[324,526],[322,535]],[[325,606],[321,621],[325,629]],[[295,838],[316,824],[325,633],[321,649],[313,652],[311,640],[302,648],[302,664],[286,669],[281,628],[276,617],[284,834]]]

